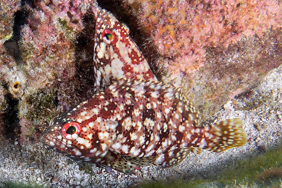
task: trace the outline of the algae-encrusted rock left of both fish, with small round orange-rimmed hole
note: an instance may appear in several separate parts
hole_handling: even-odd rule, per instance
[[[14,31],[12,40],[0,46],[1,117],[12,118],[5,111],[8,104],[4,94],[9,93],[13,100],[18,101],[12,108],[17,108],[20,118],[20,137],[23,140],[35,139],[36,133],[42,132],[51,116],[65,111],[85,95],[92,95],[89,82],[93,77],[88,76],[88,80],[81,78],[80,71],[87,72],[85,69],[91,67],[89,72],[93,74],[93,47],[84,45],[80,48],[81,41],[77,40],[81,33],[91,37],[93,30],[85,31],[90,28],[85,20],[88,23],[87,19],[91,17],[94,23],[97,5],[91,0],[42,0],[25,1],[21,7],[10,4],[9,7],[14,10],[11,16],[8,15],[13,18],[10,22],[14,23],[13,14],[21,8],[24,16],[17,17],[17,20],[21,19],[24,24],[16,23],[15,28],[19,31]],[[5,26],[1,23],[1,28]],[[14,36],[16,32],[20,36]],[[1,31],[0,36],[4,34]],[[79,68],[81,70],[77,70]],[[80,82],[80,79],[84,81]],[[81,94],[74,95],[78,91]]]

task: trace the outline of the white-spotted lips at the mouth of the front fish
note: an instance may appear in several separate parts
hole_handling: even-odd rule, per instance
[[[62,142],[61,140],[58,140],[54,137],[41,135],[39,137],[39,141],[41,143],[43,143],[44,145],[46,145],[47,147],[49,147],[49,148],[51,148],[51,149],[53,149],[57,152],[60,152],[62,154],[66,154],[66,155],[71,155],[70,147],[68,146],[67,143]],[[54,145],[52,146],[52,144],[50,144],[50,142],[53,143]],[[63,146],[63,147],[60,147],[60,146]]]

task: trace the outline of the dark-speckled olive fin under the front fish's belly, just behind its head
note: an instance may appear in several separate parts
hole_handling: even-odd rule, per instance
[[[112,162],[110,162],[111,167],[125,174],[130,174],[130,171],[138,166],[145,167],[150,164],[153,164],[155,160],[159,157],[131,157],[127,155],[122,155],[113,149],[110,149],[110,152],[112,152],[112,156],[115,158]]]

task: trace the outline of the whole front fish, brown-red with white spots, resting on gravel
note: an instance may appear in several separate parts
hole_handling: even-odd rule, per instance
[[[184,88],[121,78],[54,117],[40,142],[73,160],[124,174],[139,166],[174,167],[190,152],[223,152],[247,143],[243,120],[200,126]]]

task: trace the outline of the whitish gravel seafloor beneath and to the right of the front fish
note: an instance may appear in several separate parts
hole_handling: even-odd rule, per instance
[[[281,143],[282,66],[262,78],[249,93],[227,102],[204,123],[240,117],[248,143],[225,152],[190,153],[176,167],[151,165],[125,175],[105,166],[77,162],[41,143],[20,144],[0,138],[0,187],[7,181],[43,184],[46,187],[128,187],[139,182],[178,177],[216,177],[229,164],[259,154]]]

